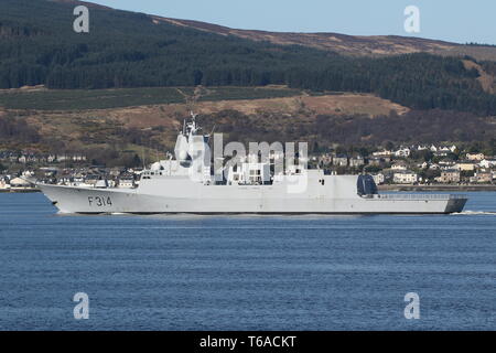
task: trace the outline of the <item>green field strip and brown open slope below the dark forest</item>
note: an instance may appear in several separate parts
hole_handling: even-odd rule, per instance
[[[294,120],[321,115],[376,118],[405,115],[408,108],[367,94],[310,95],[287,87],[127,88],[50,90],[44,87],[0,92],[0,149],[51,148],[87,150],[99,146],[134,145],[172,148],[182,119],[193,109],[213,128],[211,119],[233,114],[252,121],[279,117],[278,133]],[[227,121],[226,120],[226,121]],[[269,118],[270,120],[270,118]],[[285,121],[284,121],[285,120]],[[3,125],[2,125],[3,122]],[[28,122],[26,125],[24,125]],[[223,129],[220,124],[217,129]],[[254,131],[258,128],[254,127]],[[56,141],[54,141],[56,137]],[[248,133],[247,138],[255,138]],[[125,143],[126,145],[126,143]]]

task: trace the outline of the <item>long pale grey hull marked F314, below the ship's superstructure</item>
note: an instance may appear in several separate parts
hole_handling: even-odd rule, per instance
[[[450,195],[358,195],[323,197],[312,193],[284,194],[267,186],[224,188],[181,196],[173,192],[151,194],[134,190],[85,189],[39,185],[61,213],[193,213],[193,214],[446,214],[462,212],[466,199]]]

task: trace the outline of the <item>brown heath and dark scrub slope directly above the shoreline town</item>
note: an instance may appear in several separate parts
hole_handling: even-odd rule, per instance
[[[224,88],[217,89],[222,94]],[[216,95],[216,89],[208,90],[211,97]],[[111,93],[125,96],[127,90]],[[57,93],[47,94],[54,97]],[[204,130],[215,127],[216,132],[225,133],[226,142],[308,141],[313,153],[336,146],[376,148],[389,141],[478,141],[489,146],[496,136],[495,118],[409,110],[373,95],[206,99],[211,98],[205,96],[193,105],[182,101],[85,110],[73,110],[68,104],[60,104],[58,108],[69,108],[61,110],[0,109],[0,150],[84,153],[97,164],[112,165],[121,162],[119,158],[141,156],[143,149],[155,158],[173,150],[176,132],[192,106],[201,114]]]

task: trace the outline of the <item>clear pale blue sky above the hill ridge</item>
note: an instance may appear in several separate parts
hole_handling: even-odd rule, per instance
[[[495,0],[87,0],[116,9],[235,29],[405,35],[496,44]],[[405,9],[420,10],[420,32],[405,30]]]

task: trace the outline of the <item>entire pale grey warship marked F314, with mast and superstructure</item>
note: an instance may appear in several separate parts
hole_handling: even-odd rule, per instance
[[[240,160],[212,167],[211,135],[184,121],[174,157],[144,169],[137,188],[36,183],[60,210],[80,214],[449,214],[467,199],[451,194],[378,193],[371,175],[326,174],[289,165],[274,173],[270,161]],[[101,186],[104,184],[104,186]]]

